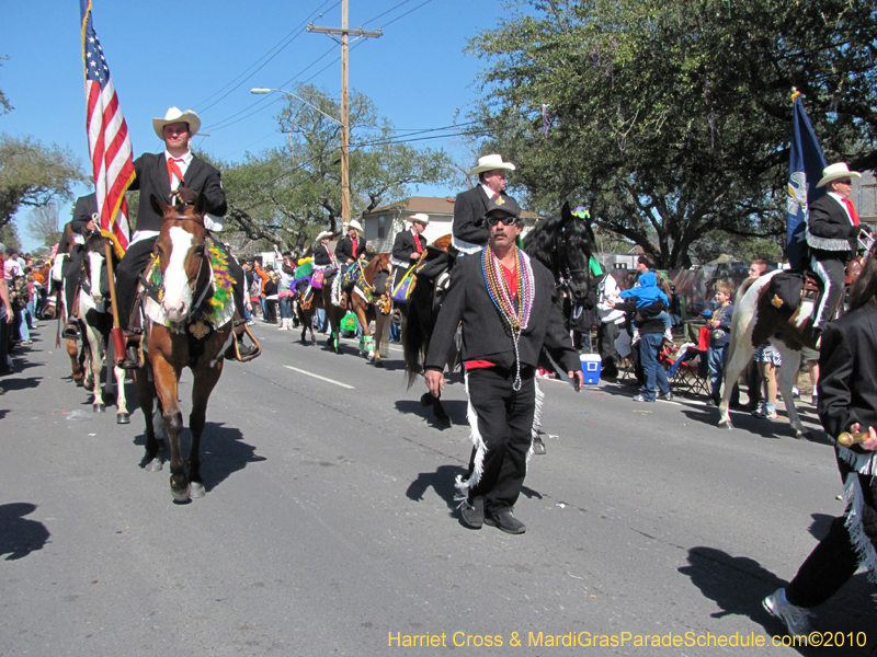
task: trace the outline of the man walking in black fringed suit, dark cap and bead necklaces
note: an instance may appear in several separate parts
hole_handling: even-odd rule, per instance
[[[469,472],[457,477],[463,521],[472,529],[486,522],[514,534],[526,529],[512,511],[533,440],[542,348],[563,366],[577,390],[583,380],[555,303],[554,277],[517,247],[520,215],[513,198],[491,200],[488,244],[454,266],[424,362],[426,385],[437,397],[445,357],[462,322],[469,417],[477,417]]]

